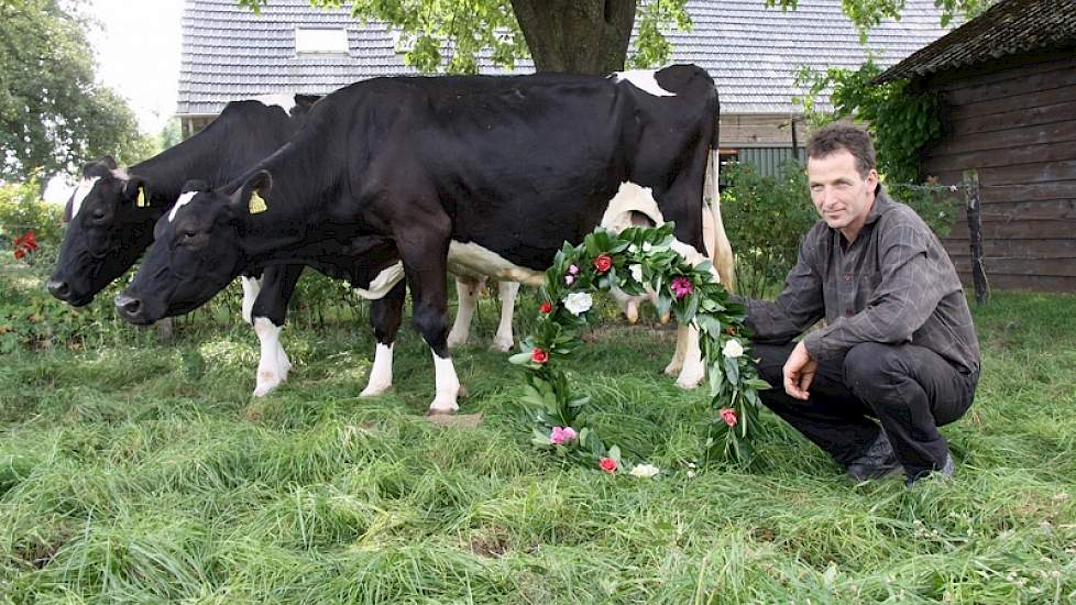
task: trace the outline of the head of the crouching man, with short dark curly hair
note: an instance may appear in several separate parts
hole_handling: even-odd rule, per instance
[[[878,170],[870,135],[848,124],[830,124],[808,141],[808,183],[819,215],[854,240],[874,207]]]

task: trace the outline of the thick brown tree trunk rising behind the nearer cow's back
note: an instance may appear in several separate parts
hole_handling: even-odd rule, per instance
[[[510,0],[538,72],[624,69],[636,0]]]

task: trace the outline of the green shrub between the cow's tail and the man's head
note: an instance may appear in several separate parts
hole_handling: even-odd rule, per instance
[[[777,176],[758,173],[750,164],[722,167],[722,222],[736,253],[740,294],[772,295],[775,285],[795,265],[800,241],[819,220],[803,166],[789,160]]]

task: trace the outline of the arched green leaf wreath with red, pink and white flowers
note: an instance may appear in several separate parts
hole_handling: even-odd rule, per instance
[[[672,223],[630,227],[621,231],[596,229],[583,243],[557,253],[546,272],[535,332],[510,358],[527,372],[523,403],[535,409],[531,442],[564,459],[616,473],[630,465],[637,476],[654,476],[651,464],[622,461],[618,447],[606,444],[594,429],[579,424],[590,400],[573,395],[560,363],[580,345],[580,331],[592,317],[591,292],[619,288],[637,296],[650,288],[658,295],[658,312],[670,310],[681,324],[699,328],[699,344],[709,373],[714,415],[706,439],[706,459],[749,462],[749,437],[758,419],[758,391],[769,385],[758,377],[746,355],[747,329],[743,305],[729,299],[717,284],[710,262],[692,265],[673,250]]]

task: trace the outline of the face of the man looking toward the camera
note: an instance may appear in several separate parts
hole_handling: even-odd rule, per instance
[[[826,224],[854,239],[874,206],[878,173],[864,178],[856,169],[856,157],[839,150],[824,157],[808,158],[811,199]]]

